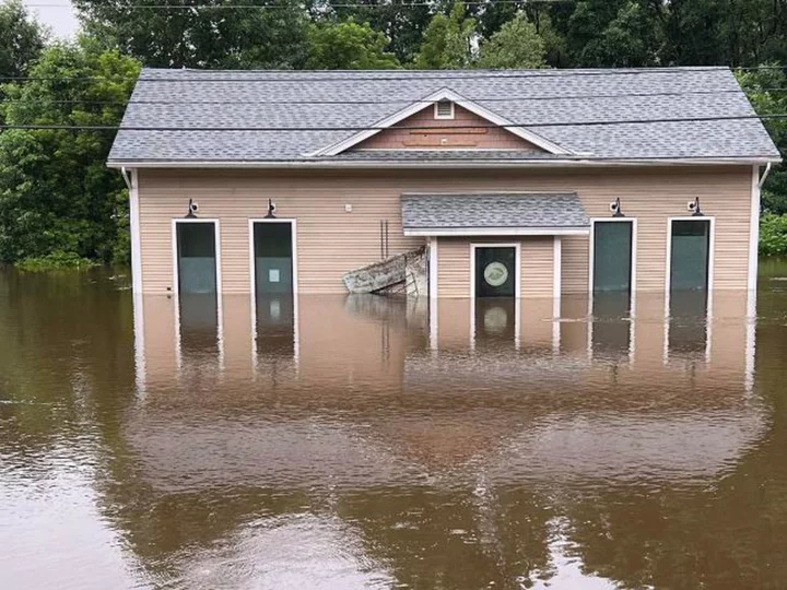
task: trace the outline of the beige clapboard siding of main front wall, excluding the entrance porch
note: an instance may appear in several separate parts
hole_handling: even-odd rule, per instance
[[[140,233],[145,293],[173,284],[172,220],[188,199],[199,215],[221,222],[222,278],[228,293],[250,288],[248,219],[262,217],[268,198],[278,215],[298,224],[298,283],[302,293],[342,293],[342,275],[379,260],[379,220],[389,221],[390,253],[423,244],[404,237],[402,192],[577,192],[588,215],[608,217],[620,197],[623,212],[638,220],[637,288],[663,291],[667,217],[686,214],[700,197],[716,217],[715,288],[745,288],[752,169],[729,167],[585,168],[560,170],[140,170]],[[344,212],[344,204],[353,206]],[[441,239],[441,245],[445,239]],[[498,241],[510,241],[501,238]],[[562,247],[563,293],[588,288],[588,238],[566,236]],[[441,275],[444,270],[438,269]],[[469,295],[469,268],[461,281]],[[446,279],[459,280],[458,275]],[[439,291],[442,292],[442,285]]]

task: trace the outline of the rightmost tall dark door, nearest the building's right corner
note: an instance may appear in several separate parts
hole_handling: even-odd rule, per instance
[[[670,291],[707,292],[710,256],[709,220],[673,220]]]

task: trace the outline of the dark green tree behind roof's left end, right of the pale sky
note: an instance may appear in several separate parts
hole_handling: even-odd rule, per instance
[[[223,0],[199,8],[150,9],[126,0],[74,0],[85,32],[105,48],[160,68],[302,67],[307,15],[295,0],[268,0],[271,8],[232,10]],[[212,8],[215,5],[215,8]]]

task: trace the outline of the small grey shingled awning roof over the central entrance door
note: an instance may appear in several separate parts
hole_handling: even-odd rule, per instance
[[[583,235],[590,222],[575,192],[401,196],[407,236]]]

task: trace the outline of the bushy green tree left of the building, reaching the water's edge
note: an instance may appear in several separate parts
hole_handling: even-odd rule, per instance
[[[4,87],[12,126],[107,126],[120,122],[140,64],[94,44],[57,44]],[[47,255],[118,260],[127,192],[107,169],[114,132],[10,129],[0,133],[0,261]]]

